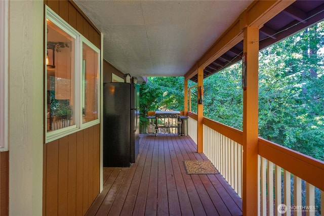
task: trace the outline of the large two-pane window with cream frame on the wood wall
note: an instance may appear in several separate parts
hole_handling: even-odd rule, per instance
[[[100,122],[99,51],[46,7],[46,142]]]

